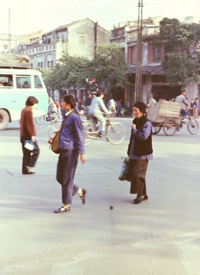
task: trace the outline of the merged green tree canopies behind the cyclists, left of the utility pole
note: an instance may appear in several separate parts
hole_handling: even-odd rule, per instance
[[[86,87],[86,78],[96,78],[96,83],[111,90],[128,83],[128,70],[121,48],[117,44],[97,45],[93,60],[65,54],[56,67],[42,70],[45,85],[61,90]]]

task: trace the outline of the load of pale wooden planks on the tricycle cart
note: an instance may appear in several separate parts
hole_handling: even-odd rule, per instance
[[[180,120],[181,103],[159,100],[156,103],[150,103],[147,112],[147,118],[151,122],[163,123],[166,117],[173,117]]]

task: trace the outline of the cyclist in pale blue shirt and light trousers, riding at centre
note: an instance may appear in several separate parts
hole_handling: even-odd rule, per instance
[[[89,110],[89,115],[95,117],[99,123],[99,135],[105,136],[105,129],[106,129],[106,119],[103,117],[102,112],[106,114],[112,114],[112,112],[108,112],[104,102],[103,102],[103,91],[99,90],[97,92],[97,97],[94,97]]]

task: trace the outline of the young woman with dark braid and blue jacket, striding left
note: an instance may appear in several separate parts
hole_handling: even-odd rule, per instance
[[[73,179],[78,164],[78,156],[82,163],[87,159],[84,152],[85,136],[81,118],[75,108],[76,102],[74,96],[64,96],[62,101],[63,121],[69,116],[61,133],[59,141],[60,155],[57,164],[57,181],[62,185],[63,206],[54,210],[55,213],[68,212],[72,204],[72,196],[76,193],[85,204],[86,190],[79,188],[74,184]],[[48,140],[52,143],[52,139]]]

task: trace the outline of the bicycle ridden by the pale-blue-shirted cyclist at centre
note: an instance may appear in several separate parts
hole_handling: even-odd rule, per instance
[[[92,121],[92,122],[91,122]],[[91,139],[100,139],[99,132],[95,131],[94,123],[98,123],[96,117],[90,117],[90,121],[83,121],[83,132],[85,134],[86,145],[89,144]],[[96,125],[97,128],[97,125]],[[122,123],[112,122],[111,117],[106,119],[106,134],[107,141],[112,144],[121,143],[126,135],[125,127]]]

